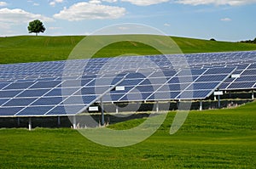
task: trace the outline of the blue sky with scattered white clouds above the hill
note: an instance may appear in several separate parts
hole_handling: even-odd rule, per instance
[[[256,37],[256,0],[0,0],[0,36],[27,35],[31,20],[44,35],[86,35],[123,23],[150,25],[167,35],[220,41]]]

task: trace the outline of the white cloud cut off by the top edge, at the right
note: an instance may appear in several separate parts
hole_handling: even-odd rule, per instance
[[[176,0],[176,3],[189,4],[194,6],[207,4],[238,6],[249,3],[256,3],[256,0]]]

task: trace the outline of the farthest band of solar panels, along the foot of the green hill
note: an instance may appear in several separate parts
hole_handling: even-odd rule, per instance
[[[225,56],[226,55],[226,56]],[[256,52],[215,53],[215,54],[185,54],[185,55],[153,55],[132,56],[105,59],[84,59],[30,64],[0,65],[0,76],[18,75],[54,75],[62,76],[63,70],[85,74],[97,74],[117,70],[150,69],[152,66],[171,68],[173,65],[201,68],[208,66],[244,65],[255,62]],[[183,63],[188,63],[184,65]],[[119,64],[115,64],[119,63]],[[86,65],[86,66],[84,66]],[[29,69],[27,69],[29,68]],[[104,69],[103,69],[104,68]],[[21,77],[22,78],[22,77]]]

